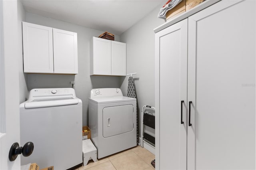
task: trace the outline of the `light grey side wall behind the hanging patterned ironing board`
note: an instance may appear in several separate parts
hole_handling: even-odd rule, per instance
[[[137,73],[133,76],[138,100],[137,114],[140,114],[144,105],[155,106],[155,34],[153,30],[164,23],[164,20],[157,18],[161,7],[155,8],[148,16],[120,35],[121,42],[126,43],[127,74]],[[128,76],[122,77],[120,83],[122,92],[127,95]],[[138,123],[140,129],[140,118]]]

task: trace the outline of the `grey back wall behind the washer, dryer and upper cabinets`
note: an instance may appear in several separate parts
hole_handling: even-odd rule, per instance
[[[77,32],[78,41],[78,74],[28,74],[28,90],[34,88],[70,87],[70,81],[75,81],[76,96],[83,104],[83,125],[88,125],[88,97],[94,88],[120,87],[120,77],[90,76],[90,39],[99,36],[104,31],[94,30],[52,18],[26,13],[26,22],[39,24],[61,30]],[[115,35],[115,40],[119,36]]]

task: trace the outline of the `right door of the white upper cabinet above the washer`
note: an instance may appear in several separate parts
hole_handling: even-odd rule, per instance
[[[53,28],[54,73],[78,73],[77,33]]]

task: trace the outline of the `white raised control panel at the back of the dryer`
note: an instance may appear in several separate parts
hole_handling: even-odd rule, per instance
[[[115,96],[123,96],[121,89],[118,89],[118,88],[92,89],[90,94],[90,98],[115,97]]]

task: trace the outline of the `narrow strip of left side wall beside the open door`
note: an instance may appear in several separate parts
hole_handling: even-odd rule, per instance
[[[18,69],[19,69],[19,87],[20,87],[20,103],[26,101],[26,96],[28,94],[28,87],[26,82],[28,76],[23,73],[23,49],[22,49],[22,21],[26,20],[26,12],[20,0],[17,1],[17,11],[18,11]]]

